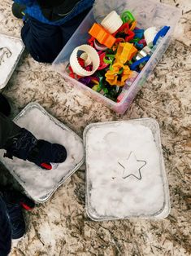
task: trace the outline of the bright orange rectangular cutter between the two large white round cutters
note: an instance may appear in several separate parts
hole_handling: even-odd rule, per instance
[[[116,38],[114,38],[111,33],[108,33],[105,29],[102,28],[100,24],[94,23],[92,28],[89,30],[89,34],[98,40],[102,45],[111,48]]]

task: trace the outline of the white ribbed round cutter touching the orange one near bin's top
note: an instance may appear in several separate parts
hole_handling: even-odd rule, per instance
[[[115,33],[122,24],[123,21],[116,11],[111,11],[111,13],[106,15],[106,18],[101,22],[102,27],[104,27],[109,33]]]

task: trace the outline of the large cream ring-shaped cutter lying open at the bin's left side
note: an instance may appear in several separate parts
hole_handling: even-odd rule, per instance
[[[93,65],[92,71],[86,70],[79,64],[77,58],[78,51],[84,51],[88,55],[87,60],[90,59]],[[70,64],[74,73],[80,77],[89,77],[96,72],[100,65],[98,52],[89,45],[78,46],[74,49],[74,51],[72,51],[72,55],[70,56]]]

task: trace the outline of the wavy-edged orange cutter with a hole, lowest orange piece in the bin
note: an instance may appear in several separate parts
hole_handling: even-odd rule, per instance
[[[120,73],[120,69],[123,68],[123,72]],[[124,86],[125,81],[131,75],[132,71],[122,63],[115,63],[112,65],[112,70],[108,70],[105,74],[106,82],[109,82],[111,86]],[[120,80],[119,80],[119,75]]]

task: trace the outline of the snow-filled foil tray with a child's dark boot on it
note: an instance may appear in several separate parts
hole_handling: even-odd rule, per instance
[[[52,117],[39,104],[31,103],[14,119],[15,123],[31,131],[37,139],[60,143],[67,149],[67,159],[52,170],[42,170],[29,161],[16,157],[4,158],[0,150],[0,161],[21,184],[34,201],[45,202],[84,162],[82,139],[63,123]]]

